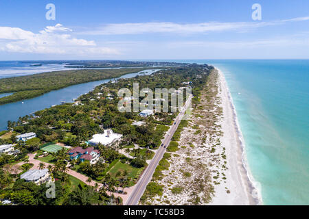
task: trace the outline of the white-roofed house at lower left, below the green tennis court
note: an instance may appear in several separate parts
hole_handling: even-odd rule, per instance
[[[36,183],[36,185],[47,183],[52,180],[49,175],[48,169],[28,170],[21,175],[21,179],[25,179],[25,181],[27,182]]]

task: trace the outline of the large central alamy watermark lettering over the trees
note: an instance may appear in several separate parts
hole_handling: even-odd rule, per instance
[[[148,116],[155,112],[174,113],[178,111],[185,115],[182,119],[187,119],[191,116],[192,88],[189,85],[190,82],[185,83],[187,83],[186,87],[155,88],[155,92],[150,88],[143,88],[139,91],[139,83],[133,83],[133,94],[128,88],[121,88],[117,92],[120,98],[118,110],[119,112],[140,112],[141,116]],[[139,102],[140,97],[144,99]]]

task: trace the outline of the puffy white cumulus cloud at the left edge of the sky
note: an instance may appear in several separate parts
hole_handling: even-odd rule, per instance
[[[18,27],[0,27],[0,50],[14,53],[118,54],[115,49],[97,47],[93,40],[73,38],[72,31],[60,24],[46,27],[38,34]],[[62,32],[62,33],[61,33]]]

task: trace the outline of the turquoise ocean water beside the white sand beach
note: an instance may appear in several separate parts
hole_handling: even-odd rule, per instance
[[[263,203],[308,205],[309,60],[207,63],[225,75]]]

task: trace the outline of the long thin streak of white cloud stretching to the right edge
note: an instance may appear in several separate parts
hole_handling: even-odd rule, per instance
[[[309,17],[299,17],[269,22],[207,22],[207,23],[111,23],[91,31],[82,31],[79,34],[88,35],[122,35],[146,33],[173,33],[173,34],[201,34],[210,31],[243,30],[271,25],[282,25],[288,22],[308,21]]]

